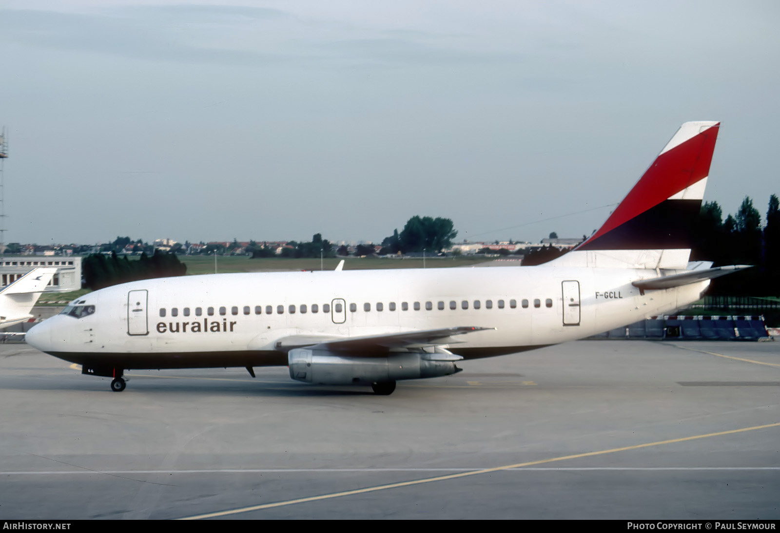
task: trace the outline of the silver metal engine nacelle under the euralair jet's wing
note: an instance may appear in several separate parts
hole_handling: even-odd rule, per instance
[[[450,376],[461,369],[435,354],[397,353],[387,357],[351,357],[328,350],[296,348],[287,355],[290,377],[322,385],[371,385],[398,379]]]

